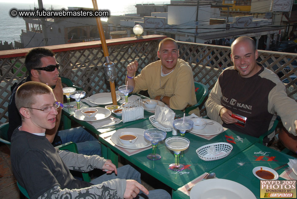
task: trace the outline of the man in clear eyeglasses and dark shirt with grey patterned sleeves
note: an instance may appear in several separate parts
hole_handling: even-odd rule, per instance
[[[22,84],[16,92],[16,106],[22,123],[11,137],[11,164],[13,174],[30,198],[132,198],[140,192],[139,199],[171,198],[161,189],[149,193],[140,184],[140,173],[129,165],[117,169],[110,160],[98,155],[53,147],[45,138],[45,130],[56,126],[60,102],[47,85],[34,81]],[[80,172],[94,168],[107,171],[86,182],[73,178],[68,168]]]

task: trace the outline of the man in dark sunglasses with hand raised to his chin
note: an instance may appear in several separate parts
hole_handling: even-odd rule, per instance
[[[59,64],[54,57],[54,53],[45,48],[35,48],[29,51],[25,58],[25,65],[29,76],[19,84],[11,87],[11,97],[8,106],[9,129],[8,139],[19,125],[21,125],[21,116],[15,105],[15,93],[17,88],[25,82],[36,81],[53,87],[53,93],[58,102],[63,102],[63,90],[61,78],[59,78]],[[66,142],[75,142],[79,153],[85,155],[101,155],[101,147],[98,139],[87,132],[82,127],[58,131],[60,125],[62,108],[57,108],[58,114],[55,119],[55,127],[46,130],[46,138],[54,146]]]

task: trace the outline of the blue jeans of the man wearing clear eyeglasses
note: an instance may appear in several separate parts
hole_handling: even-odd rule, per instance
[[[130,165],[125,165],[118,168],[118,175],[115,175],[114,173],[108,174],[108,175],[104,174],[92,180],[91,183],[94,185],[98,185],[98,184],[101,184],[102,182],[109,181],[112,179],[117,179],[117,178],[136,180],[137,182],[141,183],[140,173]],[[155,190],[150,190],[149,195],[146,195],[145,193],[140,191],[140,193],[135,198],[136,199],[149,199],[149,198],[171,199],[171,196],[167,191],[163,189],[155,189]]]

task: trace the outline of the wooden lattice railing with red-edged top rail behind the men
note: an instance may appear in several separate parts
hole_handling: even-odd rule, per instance
[[[143,36],[107,40],[110,59],[114,62],[118,78],[116,89],[125,84],[126,66],[132,60],[138,60],[139,70],[156,61],[158,44],[162,35]],[[209,89],[213,88],[222,70],[232,65],[230,47],[178,42],[180,58],[187,61],[192,69],[194,80],[201,82]],[[67,45],[48,46],[56,53],[60,63],[60,76],[67,77],[87,92],[87,96],[99,92],[110,92],[109,82],[105,80],[102,65],[105,58],[100,41],[90,41]],[[0,123],[7,122],[7,107],[10,98],[10,87],[27,76],[25,55],[30,49],[0,51]],[[258,62],[277,73],[281,80],[288,79],[288,96],[297,99],[296,81],[290,76],[297,75],[297,54],[278,53],[259,50]],[[205,114],[204,107],[201,108]]]

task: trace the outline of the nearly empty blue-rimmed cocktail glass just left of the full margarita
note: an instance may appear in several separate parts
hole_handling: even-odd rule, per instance
[[[151,128],[144,131],[145,139],[152,142],[152,153],[146,157],[150,160],[159,160],[161,156],[156,154],[157,143],[166,138],[166,132],[157,128]]]

